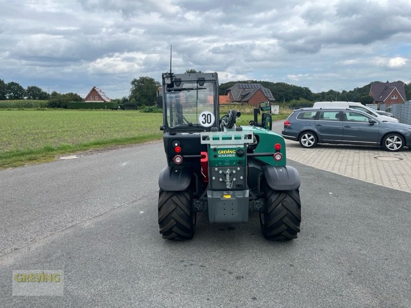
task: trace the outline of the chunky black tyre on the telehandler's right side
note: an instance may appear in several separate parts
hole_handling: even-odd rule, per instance
[[[301,223],[301,201],[298,190],[276,191],[266,188],[266,208],[260,213],[260,224],[266,239],[289,241],[297,238]]]

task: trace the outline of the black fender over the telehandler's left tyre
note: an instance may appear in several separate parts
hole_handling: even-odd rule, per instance
[[[166,191],[181,191],[189,188],[193,172],[189,167],[167,166],[160,171],[158,186]]]

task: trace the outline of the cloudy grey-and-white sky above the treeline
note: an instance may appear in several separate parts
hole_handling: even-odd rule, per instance
[[[110,98],[216,71],[313,92],[411,82],[411,1],[0,0],[0,79]],[[274,93],[275,94],[275,93]]]

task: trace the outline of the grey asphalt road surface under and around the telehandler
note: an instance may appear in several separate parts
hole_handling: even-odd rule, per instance
[[[258,216],[161,239],[161,143],[0,171],[0,306],[410,307],[410,194],[293,161],[302,224]],[[63,269],[64,296],[12,296],[12,271]]]

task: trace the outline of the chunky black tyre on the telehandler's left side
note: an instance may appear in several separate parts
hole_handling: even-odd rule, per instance
[[[158,197],[158,224],[163,239],[189,240],[194,235],[196,215],[191,208],[191,192],[163,191]]]

